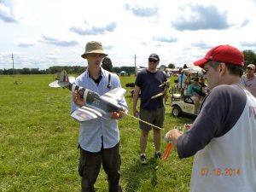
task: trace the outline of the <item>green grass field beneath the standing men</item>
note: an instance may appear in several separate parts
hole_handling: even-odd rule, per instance
[[[78,174],[79,124],[70,116],[70,93],[52,89],[53,75],[0,76],[0,191],[80,191]],[[20,79],[21,84],[14,84]],[[121,77],[122,86],[135,77]],[[132,110],[129,89],[125,96]],[[166,105],[165,130],[193,119],[173,118]],[[193,158],[179,160],[172,151],[163,163],[154,159],[152,131],[148,138],[148,164],[139,163],[139,135],[136,119],[119,120],[121,186],[123,191],[189,191]],[[162,140],[161,148],[166,148]],[[108,191],[101,171],[97,191]]]

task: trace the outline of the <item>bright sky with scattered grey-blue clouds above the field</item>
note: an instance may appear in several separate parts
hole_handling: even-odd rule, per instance
[[[88,41],[113,67],[193,65],[230,44],[256,52],[256,0],[0,0],[0,69],[87,66]]]

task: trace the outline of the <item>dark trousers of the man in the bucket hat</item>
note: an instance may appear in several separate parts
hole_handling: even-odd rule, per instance
[[[101,166],[108,175],[108,191],[122,191],[119,185],[121,158],[119,143],[113,148],[102,148],[100,152],[91,153],[80,148],[79,175],[82,192],[95,191],[94,184],[99,175]]]

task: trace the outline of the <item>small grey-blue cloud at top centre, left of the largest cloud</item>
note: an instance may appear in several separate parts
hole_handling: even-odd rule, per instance
[[[130,4],[125,4],[124,9],[127,11],[131,11],[133,15],[138,17],[151,17],[151,16],[158,16],[158,8],[144,8],[139,5],[135,5],[131,7]]]

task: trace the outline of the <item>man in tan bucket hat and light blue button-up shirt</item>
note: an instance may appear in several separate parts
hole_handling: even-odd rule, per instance
[[[76,79],[76,84],[86,89],[95,91],[100,96],[111,89],[120,87],[119,77],[109,73],[101,67],[104,53],[102,44],[90,41],[85,46],[81,55],[87,60],[88,67]],[[125,99],[120,104],[128,110]],[[84,100],[73,94],[73,112],[84,106]],[[82,192],[95,191],[94,184],[100,172],[101,165],[108,175],[108,191],[121,191],[120,154],[119,154],[119,128],[116,119],[122,118],[124,111],[111,113],[104,118],[90,119],[80,124],[79,131],[79,175],[81,176]]]

